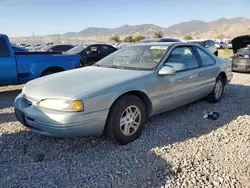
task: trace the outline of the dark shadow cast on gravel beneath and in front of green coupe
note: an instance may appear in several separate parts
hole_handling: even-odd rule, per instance
[[[156,115],[148,120],[142,136],[125,146],[118,146],[102,135],[74,138],[32,132],[2,135],[0,182],[3,187],[22,186],[30,181],[34,187],[93,187],[89,182],[96,182],[95,187],[164,186],[180,170],[154,149],[200,137],[239,116],[249,115],[250,98],[243,99],[246,93],[250,93],[249,86],[230,84],[219,103],[201,100]],[[216,121],[205,120],[204,110],[217,111],[221,117]]]

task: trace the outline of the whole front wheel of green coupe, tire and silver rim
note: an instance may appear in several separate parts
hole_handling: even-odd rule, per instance
[[[146,109],[140,98],[124,95],[110,110],[106,134],[121,145],[136,140],[142,133],[146,121]]]

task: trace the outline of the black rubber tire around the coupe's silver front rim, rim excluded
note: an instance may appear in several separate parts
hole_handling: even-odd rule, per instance
[[[132,135],[127,136],[121,130],[122,128],[120,126],[120,119],[125,113],[125,110],[131,106],[136,106],[139,109],[141,114],[141,120],[137,130]],[[145,122],[146,109],[142,100],[135,95],[124,95],[114,103],[109,112],[105,128],[105,134],[108,136],[109,139],[121,145],[125,145],[136,140],[141,135]],[[129,128],[129,130],[131,130],[131,128]]]

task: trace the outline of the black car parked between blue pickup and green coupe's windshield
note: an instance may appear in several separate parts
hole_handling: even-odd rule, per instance
[[[76,46],[64,54],[79,54],[81,56],[81,65],[89,66],[116,50],[117,48],[108,44],[91,44]]]

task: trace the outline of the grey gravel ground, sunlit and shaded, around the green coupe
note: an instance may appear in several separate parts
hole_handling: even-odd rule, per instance
[[[250,187],[250,74],[235,73],[220,103],[151,118],[126,146],[27,131],[13,114],[20,88],[0,88],[0,187]]]

